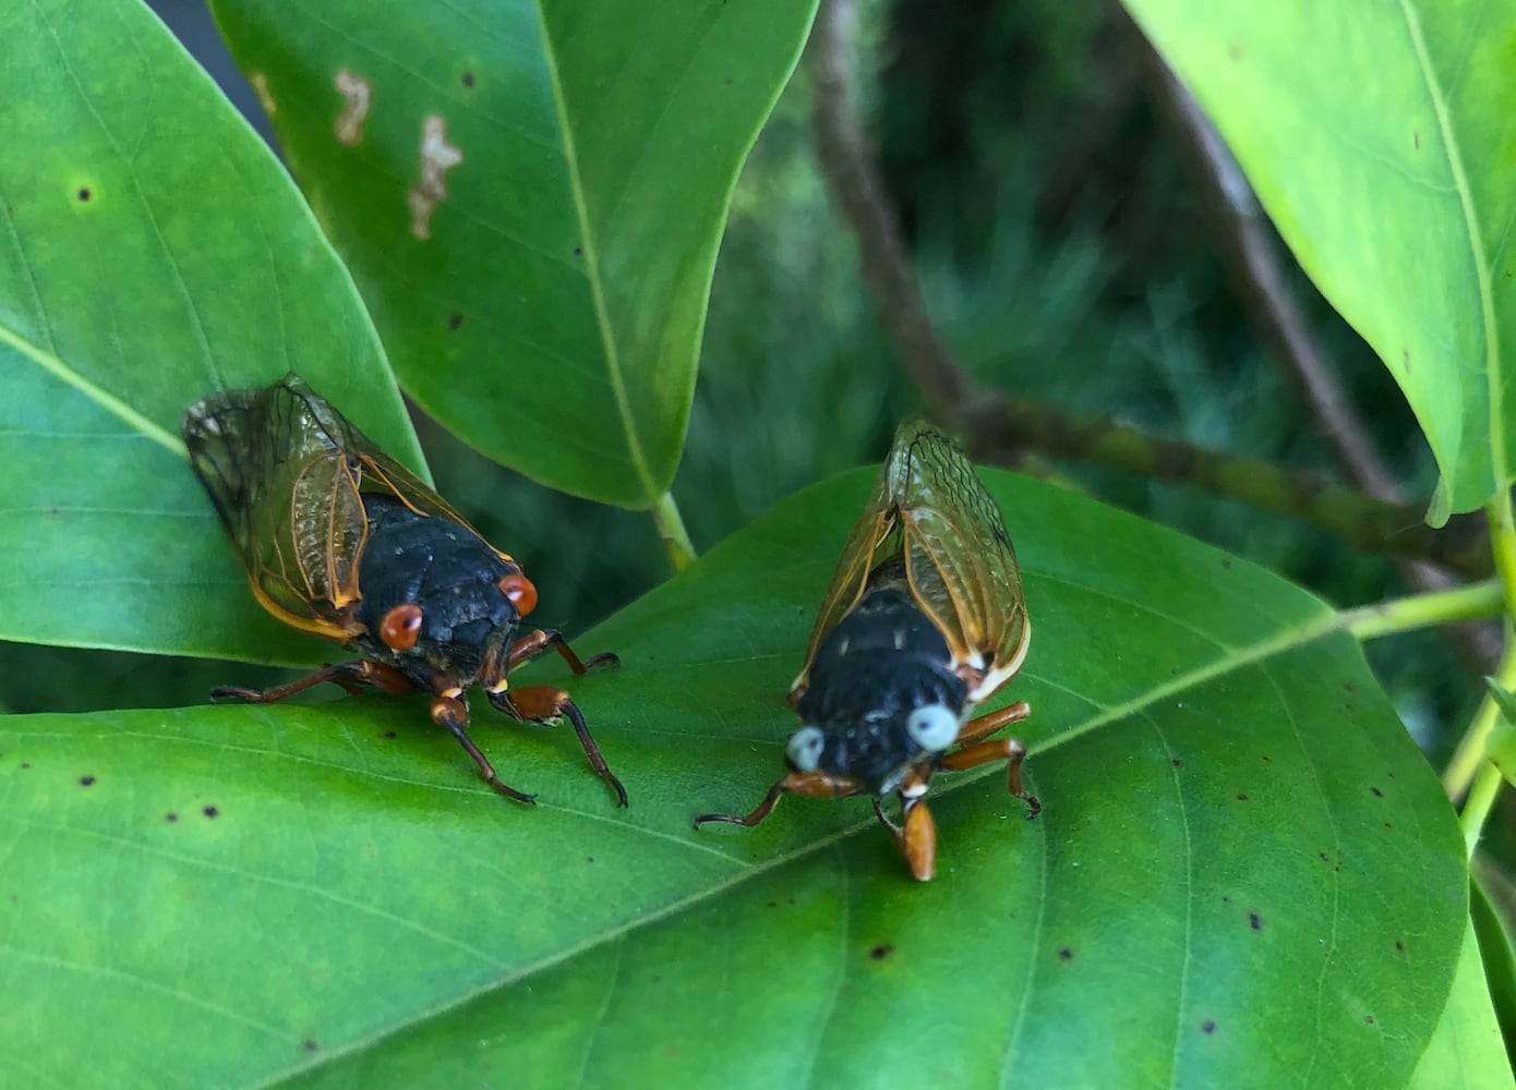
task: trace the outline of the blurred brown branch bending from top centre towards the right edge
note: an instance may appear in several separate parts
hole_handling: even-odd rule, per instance
[[[1367,552],[1433,558],[1469,575],[1489,570],[1478,520],[1431,531],[1420,508],[1377,500],[1313,475],[1154,438],[1110,420],[1008,399],[978,387],[932,327],[884,183],[852,109],[855,30],[854,0],[822,0],[810,50],[816,76],[817,156],[832,199],[858,238],[863,276],[875,308],[934,418],[967,426],[976,453],[990,446],[1008,452],[1037,450],[1187,484],[1319,526]]]

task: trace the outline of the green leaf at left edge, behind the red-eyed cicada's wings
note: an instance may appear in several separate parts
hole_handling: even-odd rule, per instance
[[[309,661],[183,458],[199,396],[290,368],[420,453],[352,280],[136,3],[36,0],[0,65],[0,638]]]

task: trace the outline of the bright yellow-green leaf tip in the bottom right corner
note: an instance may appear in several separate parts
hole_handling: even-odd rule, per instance
[[[1480,897],[1475,896],[1475,901]],[[1480,940],[1469,922],[1448,1005],[1437,1032],[1416,1066],[1411,1090],[1505,1090],[1516,1085],[1490,1007],[1490,988],[1480,961]]]

